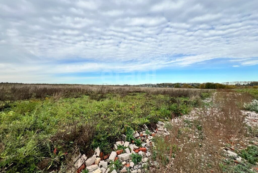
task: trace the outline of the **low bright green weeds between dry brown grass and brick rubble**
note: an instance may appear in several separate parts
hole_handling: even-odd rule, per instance
[[[0,113],[0,168],[6,167],[8,173],[41,172],[37,170],[38,162],[44,158],[58,160],[49,163],[51,169],[62,164],[64,153],[71,153],[75,145],[85,153],[97,145],[109,152],[111,145],[124,133],[124,127],[136,130],[143,124],[171,118],[172,114],[187,114],[196,105],[187,97],[176,99],[172,102],[166,95],[131,93],[125,97],[106,94],[99,101],[82,96],[10,103]],[[90,131],[94,136],[87,146],[80,145],[72,138],[73,134],[68,134],[76,130],[81,132],[93,123],[96,126]],[[73,126],[75,130],[71,131]],[[105,133],[108,138],[101,143],[103,136],[100,134]],[[57,134],[70,137],[59,139],[61,135]]]

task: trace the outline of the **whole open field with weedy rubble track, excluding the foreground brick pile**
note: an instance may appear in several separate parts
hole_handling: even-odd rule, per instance
[[[128,129],[140,133],[144,125],[157,136],[146,146],[152,154],[149,161],[155,164],[149,162],[141,171],[256,171],[257,125],[247,126],[240,111],[255,99],[256,90],[238,94],[235,90],[3,84],[0,91],[2,172],[67,172],[78,152],[89,158],[100,147],[103,155],[110,154],[123,134],[131,135]],[[170,135],[158,135],[158,121],[165,122],[162,128]],[[249,153],[251,141],[254,152]],[[241,163],[230,160],[222,147],[237,148],[234,152],[243,158]]]

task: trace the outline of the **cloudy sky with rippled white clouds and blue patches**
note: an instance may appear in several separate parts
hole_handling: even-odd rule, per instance
[[[0,0],[0,82],[258,80],[257,0]]]

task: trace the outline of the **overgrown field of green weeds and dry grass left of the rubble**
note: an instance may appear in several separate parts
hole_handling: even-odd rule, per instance
[[[208,90],[97,86],[75,92],[74,98],[70,92],[78,86],[10,87],[1,86],[0,168],[4,172],[62,170],[77,148],[88,156],[95,146],[110,153],[125,126],[137,130],[146,124],[154,129],[158,120],[201,107],[201,97],[209,95],[203,94]],[[44,163],[46,158],[50,161]]]

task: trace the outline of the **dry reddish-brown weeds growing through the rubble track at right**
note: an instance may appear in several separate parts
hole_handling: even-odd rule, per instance
[[[247,133],[240,106],[250,99],[246,93],[221,90],[213,107],[199,109],[194,119],[173,123],[170,136],[156,138],[156,165],[152,171],[221,173],[222,147],[228,142],[234,144],[236,138],[241,140]]]

